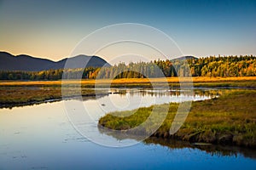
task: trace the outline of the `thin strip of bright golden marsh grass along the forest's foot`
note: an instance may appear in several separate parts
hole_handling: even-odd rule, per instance
[[[186,78],[184,78],[185,80]],[[193,77],[195,87],[256,87],[256,77]],[[121,78],[121,79],[99,79],[99,80],[63,80],[61,81],[34,81],[34,82],[0,82],[0,86],[61,86],[63,84],[81,84],[82,87],[94,88],[106,87],[111,84],[113,88],[118,87],[152,87],[165,85],[168,82],[171,87],[179,87],[178,77],[167,78]]]

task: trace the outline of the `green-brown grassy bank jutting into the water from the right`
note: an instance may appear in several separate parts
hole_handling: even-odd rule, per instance
[[[177,104],[157,105],[159,114],[169,108],[161,127],[152,137],[178,139],[190,143],[230,144],[256,147],[256,90],[230,90],[218,99],[192,103],[189,116],[174,135],[169,134]],[[150,115],[153,107],[140,108],[131,116],[131,111],[114,112],[103,116],[99,124],[110,129],[125,130],[137,127]],[[133,112],[133,111],[132,111]],[[119,115],[119,116],[113,116]],[[123,117],[120,117],[123,116]],[[125,116],[125,117],[124,117]],[[148,133],[143,129],[139,133]]]

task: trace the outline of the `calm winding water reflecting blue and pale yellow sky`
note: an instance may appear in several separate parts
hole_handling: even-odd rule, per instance
[[[97,122],[109,111],[125,111],[154,103],[210,99],[214,90],[195,91],[193,96],[174,90],[125,90],[100,99],[86,99],[85,111]],[[112,102],[110,102],[112,101]],[[76,99],[67,100],[76,105]],[[95,144],[89,139],[115,140],[100,133],[96,124],[86,126],[89,139],[69,122],[64,101],[0,110],[0,169],[255,169],[250,150],[191,148],[189,145],[143,142],[121,148]],[[114,106],[113,106],[114,105]],[[73,113],[76,113],[74,110]],[[69,113],[70,114],[70,113]],[[86,122],[84,123],[86,124]],[[150,144],[151,143],[151,144]],[[169,145],[170,144],[170,145]],[[164,146],[166,145],[166,146]]]

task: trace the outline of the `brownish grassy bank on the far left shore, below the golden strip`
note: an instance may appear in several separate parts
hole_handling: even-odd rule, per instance
[[[108,94],[100,91],[97,94]],[[94,88],[67,88],[65,97],[74,98],[94,97],[96,95]],[[32,105],[44,103],[46,101],[61,100],[61,86],[0,86],[0,108],[13,107],[18,105]]]

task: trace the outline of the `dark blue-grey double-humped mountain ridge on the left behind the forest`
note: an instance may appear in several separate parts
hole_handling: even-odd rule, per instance
[[[77,55],[55,62],[24,54],[14,56],[6,52],[0,52],[0,71],[45,71],[62,69],[65,65],[65,68],[111,66],[106,60],[97,56]]]

